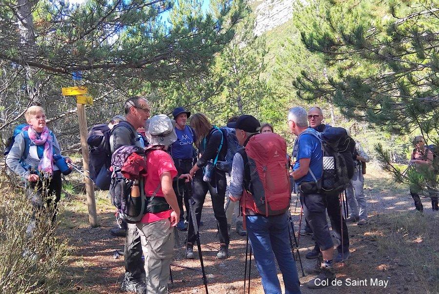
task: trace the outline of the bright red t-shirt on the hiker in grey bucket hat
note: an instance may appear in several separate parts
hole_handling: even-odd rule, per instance
[[[171,178],[177,175],[177,168],[175,168],[174,161],[171,156],[162,150],[153,150],[149,152],[148,158],[146,160],[148,167],[148,176],[145,181],[145,195],[150,196],[154,194],[154,190],[160,184],[160,176],[169,171],[171,173]],[[161,188],[157,191],[156,196],[163,197],[163,191]],[[169,218],[171,216],[172,210],[166,210],[158,213],[146,213],[143,215],[142,223],[153,223],[162,219]]]

